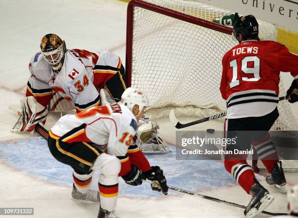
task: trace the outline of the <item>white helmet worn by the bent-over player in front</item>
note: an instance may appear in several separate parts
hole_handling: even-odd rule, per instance
[[[127,106],[130,110],[137,104],[139,105],[139,113],[141,113],[143,107],[149,106],[149,99],[144,92],[129,87],[122,93],[121,103]]]

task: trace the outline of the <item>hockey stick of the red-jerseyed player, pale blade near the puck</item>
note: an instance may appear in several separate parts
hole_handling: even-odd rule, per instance
[[[279,98],[279,100],[284,100],[284,99],[285,99],[285,96]],[[218,118],[222,118],[222,117],[225,117],[225,116],[226,116],[226,112],[221,113],[221,114],[217,114],[217,115],[213,115],[213,116],[208,117],[208,118],[198,119],[198,120],[188,122],[188,123],[181,123],[176,118],[175,113],[174,113],[174,109],[172,109],[169,113],[170,122],[176,127],[176,129],[182,129],[182,128],[185,128],[187,126],[193,126],[193,125],[205,122],[205,121],[218,119]]]

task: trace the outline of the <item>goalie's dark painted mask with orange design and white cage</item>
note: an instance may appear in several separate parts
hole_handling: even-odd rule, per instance
[[[64,62],[66,45],[56,34],[47,34],[40,42],[43,58],[51,65],[54,72],[58,73]]]

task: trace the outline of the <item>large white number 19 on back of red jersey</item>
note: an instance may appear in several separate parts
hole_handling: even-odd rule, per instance
[[[260,59],[257,56],[247,56],[243,58],[241,62],[234,59],[230,61],[230,67],[232,68],[232,80],[229,83],[230,88],[240,85],[241,81],[256,82],[261,79]],[[240,77],[238,75],[239,68],[244,74],[251,74],[253,77]]]

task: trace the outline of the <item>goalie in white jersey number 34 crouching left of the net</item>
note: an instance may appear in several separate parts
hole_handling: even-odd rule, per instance
[[[97,106],[101,103],[101,88],[115,102],[121,99],[126,89],[125,69],[117,55],[108,51],[67,49],[65,41],[56,34],[45,35],[40,49],[29,63],[31,76],[26,98],[21,100],[21,116],[12,132],[34,131],[38,122],[45,123],[48,111],[75,109],[78,113]],[[151,122],[139,128],[140,139],[145,132],[147,135],[154,132]]]

